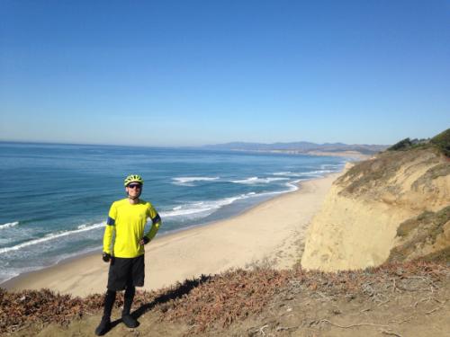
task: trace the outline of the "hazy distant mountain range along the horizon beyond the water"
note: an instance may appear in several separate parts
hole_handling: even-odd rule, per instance
[[[388,146],[366,145],[366,144],[347,145],[343,143],[316,144],[310,142],[272,143],[272,144],[231,142],[226,144],[206,145],[202,147],[214,150],[290,152],[290,153],[294,152],[305,154],[311,152],[356,151],[365,155],[373,155],[377,152],[385,150]]]

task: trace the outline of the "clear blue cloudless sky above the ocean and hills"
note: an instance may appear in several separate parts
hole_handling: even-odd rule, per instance
[[[450,128],[450,2],[0,0],[0,139],[392,144]]]

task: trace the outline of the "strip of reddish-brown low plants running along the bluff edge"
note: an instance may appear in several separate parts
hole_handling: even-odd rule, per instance
[[[220,275],[186,280],[157,292],[138,292],[135,315],[156,312],[161,321],[191,326],[190,333],[223,329],[260,313],[275,297],[296,292],[311,296],[364,296],[372,301],[386,301],[395,291],[437,288],[448,278],[450,268],[430,262],[388,264],[360,271],[325,273],[294,270],[230,270]],[[7,292],[0,289],[0,333],[11,333],[31,324],[66,325],[98,313],[103,295],[70,297],[48,289]],[[122,306],[122,297],[116,306]]]

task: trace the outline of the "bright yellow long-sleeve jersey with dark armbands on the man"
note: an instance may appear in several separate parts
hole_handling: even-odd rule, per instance
[[[104,229],[103,252],[125,258],[142,255],[144,246],[140,245],[139,241],[144,237],[148,217],[152,226],[145,236],[151,240],[161,226],[161,217],[155,208],[145,200],[139,200],[139,203],[134,205],[130,204],[128,198],[114,201]]]

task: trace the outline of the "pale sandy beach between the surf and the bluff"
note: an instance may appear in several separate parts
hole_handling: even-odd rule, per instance
[[[302,182],[298,191],[267,200],[237,217],[157,237],[146,246],[144,289],[255,264],[293,266],[302,257],[311,218],[339,174]],[[105,291],[107,273],[108,264],[96,253],[21,275],[1,287],[50,288],[86,296]]]

